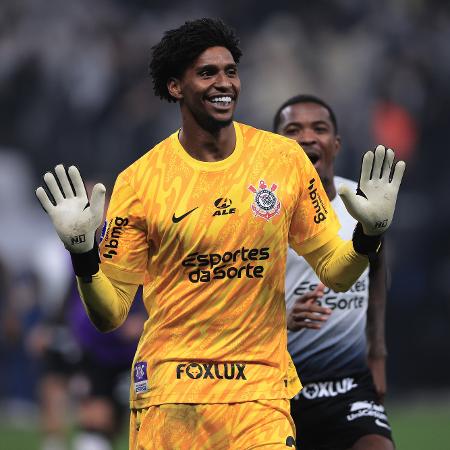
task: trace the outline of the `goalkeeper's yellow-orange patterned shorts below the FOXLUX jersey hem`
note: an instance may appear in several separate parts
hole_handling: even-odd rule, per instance
[[[289,400],[164,404],[134,410],[130,450],[295,448]]]

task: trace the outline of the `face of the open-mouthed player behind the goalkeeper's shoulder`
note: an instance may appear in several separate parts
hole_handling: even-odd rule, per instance
[[[303,147],[322,180],[333,177],[340,138],[325,107],[317,103],[287,106],[281,111],[278,132]]]

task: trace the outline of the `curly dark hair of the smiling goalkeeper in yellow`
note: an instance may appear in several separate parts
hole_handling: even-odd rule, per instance
[[[197,19],[166,31],[161,41],[152,47],[149,72],[155,95],[176,102],[167,90],[167,80],[180,78],[189,65],[210,47],[227,48],[236,64],[241,59],[242,51],[235,31],[220,19]]]

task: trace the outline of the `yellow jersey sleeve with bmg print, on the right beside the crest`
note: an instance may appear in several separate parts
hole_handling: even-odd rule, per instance
[[[340,224],[316,169],[300,150],[296,158],[298,198],[289,228],[289,245],[305,255],[336,236]]]

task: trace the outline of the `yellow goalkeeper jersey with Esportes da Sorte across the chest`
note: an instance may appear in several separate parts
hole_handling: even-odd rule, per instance
[[[309,159],[290,139],[234,123],[225,160],[203,162],[178,132],[117,178],[101,269],[143,284],[148,312],[131,407],[290,398],[288,243],[300,254],[339,223]]]

